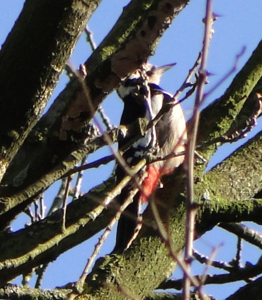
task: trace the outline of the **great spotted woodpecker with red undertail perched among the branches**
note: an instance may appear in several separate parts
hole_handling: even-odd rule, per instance
[[[174,101],[172,95],[158,86],[162,74],[174,64],[155,67],[149,63],[143,64],[129,76],[117,89],[117,93],[124,102],[120,125],[129,125],[137,118],[154,119],[165,102]],[[173,102],[176,104],[176,102]],[[128,136],[119,141],[119,148],[131,140]],[[174,105],[164,114],[157,125],[151,128],[145,137],[138,140],[124,154],[129,165],[135,165],[141,159],[141,154],[154,147],[156,155],[166,155],[182,152],[185,149],[186,123],[183,111],[179,104]],[[117,226],[117,237],[114,251],[122,252],[129,247],[133,240],[139,215],[139,203],[146,202],[148,197],[158,187],[159,179],[164,174],[174,171],[184,160],[184,156],[177,156],[167,160],[154,162],[146,167],[147,177],[142,182],[143,192],[139,191],[133,202],[120,216]],[[117,183],[125,176],[125,171],[117,165]],[[125,187],[118,196],[118,203],[123,204],[132,186]]]

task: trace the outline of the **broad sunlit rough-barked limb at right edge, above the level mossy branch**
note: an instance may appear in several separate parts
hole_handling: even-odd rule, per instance
[[[208,191],[211,200],[244,200],[254,197],[262,187],[262,133],[239,147],[233,154],[196,184],[196,190]],[[198,193],[198,192],[197,192]],[[201,196],[197,196],[201,199]],[[205,197],[203,197],[205,198]]]

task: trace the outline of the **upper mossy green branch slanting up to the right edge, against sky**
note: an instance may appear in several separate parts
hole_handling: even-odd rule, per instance
[[[233,79],[226,93],[201,113],[198,143],[210,142],[221,137],[231,126],[234,128],[242,127],[243,119],[238,115],[241,112],[246,116],[247,110],[242,110],[242,107],[246,101],[253,103],[252,98],[248,98],[248,96],[261,77],[262,41],[260,41],[242,70]],[[248,105],[248,102],[246,105]],[[251,113],[253,110],[254,107],[251,108]],[[237,124],[236,120],[238,120]],[[208,147],[203,151],[203,156],[209,159],[218,146],[219,144],[214,144]]]

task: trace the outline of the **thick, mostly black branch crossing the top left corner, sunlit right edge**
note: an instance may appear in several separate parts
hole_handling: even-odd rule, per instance
[[[0,181],[99,2],[25,2],[0,51]]]

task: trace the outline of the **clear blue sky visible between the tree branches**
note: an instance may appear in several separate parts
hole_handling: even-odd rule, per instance
[[[5,41],[8,32],[14,25],[14,22],[23,7],[23,2],[23,0],[0,1],[0,44]],[[126,0],[102,1],[102,4],[96,10],[88,24],[90,31],[93,32],[93,38],[97,45],[102,41],[105,35],[107,35],[108,31],[120,16],[123,6],[128,4],[128,2],[129,1]],[[212,86],[231,69],[236,55],[241,51],[242,47],[245,46],[245,54],[242,55],[238,64],[238,70],[240,70],[262,37],[260,13],[262,11],[262,1],[213,0],[213,10],[221,17],[219,17],[214,24],[215,34],[212,38],[208,59],[208,71],[213,75],[209,77],[209,85],[206,86],[206,90],[212,88]],[[172,70],[164,74],[160,84],[162,88],[171,93],[174,93],[184,81],[188,70],[192,67],[198,52],[201,49],[203,38],[202,19],[204,14],[205,1],[192,0],[175,19],[170,29],[164,34],[155,55],[150,58],[151,63],[156,65],[171,62],[177,63]],[[85,42],[85,36],[82,35],[70,58],[70,62],[78,68],[79,64],[86,61],[90,54],[90,47]],[[235,75],[236,73],[219,86],[219,88],[210,95],[208,101],[214,101],[216,98],[223,95],[225,89],[229,86]],[[50,99],[50,103],[65,87],[66,82],[66,76],[62,75],[60,82]],[[192,105],[192,100],[183,103],[184,113],[187,118],[192,112]],[[122,104],[115,92],[109,95],[103,102],[103,108],[112,124],[118,125]],[[257,127],[248,134],[248,139],[260,130],[261,122],[258,122]],[[244,141],[245,140],[241,140],[234,145],[221,147],[214,158],[212,158],[210,166],[225,158],[233,151],[233,149]],[[88,160],[92,161],[100,158],[102,155],[108,154],[109,152],[107,149],[102,149],[98,153],[90,156]],[[100,167],[91,170],[90,172],[86,172],[82,191],[87,192],[91,187],[96,186],[102,180],[107,179],[113,167],[114,164],[112,163],[106,167]],[[45,196],[47,199],[47,206],[51,204],[52,197],[58,187],[59,184],[56,183],[48,190],[47,195]],[[25,216],[20,217],[13,224],[13,228],[20,228],[24,221],[28,221],[28,219]],[[259,226],[255,226],[255,228],[258,228],[258,230],[261,231]],[[93,243],[96,241],[97,237],[86,241],[79,247],[75,247],[67,253],[64,253],[55,262],[51,263],[47,269],[42,287],[53,288],[68,282],[76,281],[84,268],[86,259],[93,250]],[[109,253],[113,244],[114,237],[110,237],[104,245],[100,255]],[[217,228],[211,232],[207,232],[200,240],[196,241],[195,247],[206,255],[212,253],[214,247],[218,247],[215,259],[230,261],[235,255],[236,238],[224,233],[222,229]],[[257,251],[254,247],[250,247],[247,243],[244,243],[243,260],[247,259],[252,263],[256,263],[259,255],[260,251]],[[201,267],[194,264],[194,272],[196,274],[199,274],[201,270],[203,270],[203,268],[201,269]],[[60,274],[63,274],[63,276]],[[175,275],[178,276],[179,272],[177,271]],[[243,283],[240,283],[240,285],[243,285]],[[230,295],[230,291],[233,292],[232,286],[239,286],[239,283],[230,284],[228,287],[223,287],[223,289],[221,289],[221,286],[208,286],[205,290],[207,293],[214,295],[217,299],[224,299],[226,296]]]

